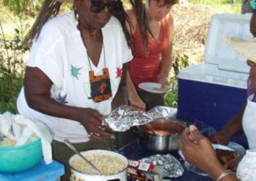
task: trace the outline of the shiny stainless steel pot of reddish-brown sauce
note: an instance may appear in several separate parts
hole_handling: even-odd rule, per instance
[[[142,147],[157,154],[167,154],[179,149],[178,140],[187,126],[185,122],[157,119],[149,124],[155,133],[147,124],[137,126],[137,129],[134,129],[134,133]]]

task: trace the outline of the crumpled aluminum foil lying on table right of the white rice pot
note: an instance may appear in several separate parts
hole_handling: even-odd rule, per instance
[[[140,161],[163,166],[163,177],[177,178],[182,176],[184,172],[182,165],[175,157],[172,156],[172,154],[156,154],[149,157],[145,157]]]

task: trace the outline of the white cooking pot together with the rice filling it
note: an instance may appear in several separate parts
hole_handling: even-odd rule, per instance
[[[83,180],[83,181],[126,181],[127,180],[127,168],[128,168],[128,160],[126,157],[118,154],[116,152],[111,152],[108,150],[88,150],[81,152],[86,159],[90,160],[99,170],[102,172],[102,175],[97,173],[92,173],[92,170],[86,170],[88,168],[88,164],[86,164],[81,157],[75,154],[74,156],[70,157],[68,163],[71,168],[71,178],[70,180]],[[95,158],[92,161],[92,158]],[[106,157],[109,157],[109,161],[106,161]],[[113,161],[113,157],[115,157],[115,161]],[[112,162],[111,162],[111,161]],[[77,161],[82,161],[77,162]],[[97,164],[95,164],[97,161]],[[119,163],[119,164],[117,164]],[[121,164],[120,164],[121,163]],[[98,166],[98,165],[101,166]],[[106,173],[106,169],[114,169],[118,166],[122,165],[119,171],[116,173]],[[77,168],[78,166],[78,168]],[[81,168],[82,166],[85,166]],[[113,168],[114,167],[114,168]],[[91,168],[90,168],[91,169]]]

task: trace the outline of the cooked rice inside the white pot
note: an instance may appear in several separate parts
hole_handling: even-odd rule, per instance
[[[127,166],[122,159],[116,156],[109,156],[107,154],[92,154],[90,156],[86,156],[96,168],[100,170],[102,175],[110,175],[118,173],[125,169]],[[72,168],[82,173],[89,174],[97,174],[95,170],[93,170],[92,166],[86,163],[83,159],[77,158],[74,159],[71,163]]]

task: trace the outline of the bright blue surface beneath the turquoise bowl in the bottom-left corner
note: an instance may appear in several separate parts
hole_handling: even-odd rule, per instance
[[[0,172],[1,181],[57,181],[65,173],[64,165],[57,161],[45,164],[44,159],[33,168],[20,172]]]

